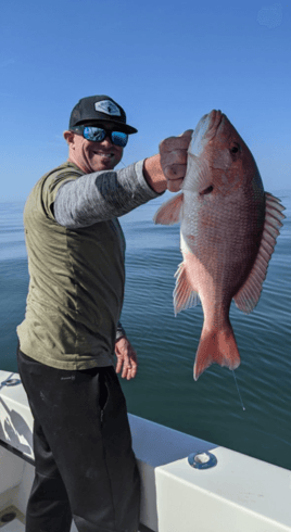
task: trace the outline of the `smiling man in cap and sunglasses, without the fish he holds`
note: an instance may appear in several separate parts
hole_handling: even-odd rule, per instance
[[[81,99],[64,138],[68,161],[46,174],[24,212],[29,267],[18,369],[35,419],[36,476],[26,532],[136,532],[140,489],[126,404],[114,370],[137,357],[119,324],[125,242],[117,217],[177,191],[190,131],[161,153],[113,168],[128,135],[121,105]]]

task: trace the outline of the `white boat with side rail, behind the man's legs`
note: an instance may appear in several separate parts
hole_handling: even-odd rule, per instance
[[[139,532],[291,532],[291,471],[128,417],[142,482]],[[3,532],[25,530],[34,464],[33,416],[20,376],[0,370]]]

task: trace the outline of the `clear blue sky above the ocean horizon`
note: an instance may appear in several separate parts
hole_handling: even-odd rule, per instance
[[[139,130],[125,165],[220,109],[265,189],[291,188],[290,2],[10,0],[0,24],[0,200],[67,159],[71,111],[98,93]]]

